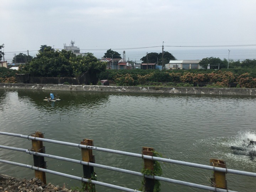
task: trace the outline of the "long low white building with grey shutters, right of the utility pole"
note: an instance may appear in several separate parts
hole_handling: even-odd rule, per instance
[[[165,69],[204,69],[199,62],[201,60],[170,60]]]

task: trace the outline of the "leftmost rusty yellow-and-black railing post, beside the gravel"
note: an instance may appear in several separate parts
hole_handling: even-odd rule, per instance
[[[34,134],[31,135],[31,137],[44,138],[44,134],[41,132],[35,132]],[[31,151],[38,152],[38,153],[45,153],[45,147],[43,146],[43,142],[32,139]],[[44,161],[44,157],[33,155],[33,159],[34,159],[35,167],[46,169],[46,162]],[[41,181],[44,184],[47,184],[45,172],[35,170],[35,177],[41,179]]]

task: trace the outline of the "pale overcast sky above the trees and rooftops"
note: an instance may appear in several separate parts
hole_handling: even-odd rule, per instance
[[[256,59],[255,0],[0,0],[0,7],[8,62],[71,40],[97,58],[125,50],[126,60],[138,62],[164,45],[181,60]]]

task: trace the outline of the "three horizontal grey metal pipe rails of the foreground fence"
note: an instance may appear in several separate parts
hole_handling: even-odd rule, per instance
[[[26,139],[29,139],[29,140],[49,142],[49,143],[54,143],[54,144],[67,145],[67,146],[74,146],[74,147],[90,149],[90,150],[104,151],[104,152],[107,152],[107,153],[127,155],[127,156],[142,158],[142,159],[148,159],[148,160],[152,160],[152,161],[161,161],[161,162],[167,162],[167,163],[171,163],[171,164],[185,165],[185,166],[196,167],[196,168],[200,168],[200,169],[207,169],[207,170],[212,170],[212,171],[218,171],[218,172],[223,172],[223,173],[231,173],[231,174],[237,174],[237,175],[256,177],[256,173],[253,173],[253,172],[239,171],[239,170],[226,169],[226,168],[221,168],[221,167],[208,166],[208,165],[196,164],[196,163],[185,162],[185,161],[171,160],[171,159],[159,158],[159,157],[150,156],[150,155],[143,155],[143,154],[130,153],[130,152],[126,152],[126,151],[100,148],[100,147],[96,147],[96,146],[89,146],[89,145],[75,144],[75,143],[69,143],[69,142],[62,142],[62,141],[58,141],[58,140],[32,137],[32,136],[29,136],[29,135],[21,135],[21,134],[6,133],[6,132],[0,132],[0,135],[20,137],[20,138],[26,138]],[[64,158],[64,157],[50,155],[50,154],[38,153],[38,152],[31,151],[31,150],[28,150],[28,149],[21,149],[21,148],[15,148],[15,147],[4,146],[4,145],[0,145],[0,148],[8,149],[8,150],[16,150],[16,151],[25,152],[27,154],[36,155],[36,156],[58,159],[58,160],[73,162],[73,163],[77,163],[77,164],[81,164],[81,165],[86,165],[86,166],[91,166],[91,167],[98,167],[98,168],[101,168],[101,169],[107,169],[107,170],[122,172],[122,173],[125,173],[125,174],[141,176],[141,177],[150,178],[150,179],[154,179],[154,180],[165,181],[165,182],[175,183],[175,184],[179,184],[179,185],[194,187],[194,188],[200,188],[200,189],[208,190],[208,191],[217,191],[217,192],[226,192],[227,191],[226,189],[222,189],[222,188],[199,185],[199,184],[196,184],[196,183],[179,181],[179,180],[174,180],[174,179],[166,178],[166,177],[144,175],[141,172],[130,171],[130,170],[125,170],[125,169],[120,169],[120,168],[117,168],[117,167],[101,165],[101,164],[95,164],[95,163],[92,163],[92,162],[87,162],[87,161],[82,161],[82,160]],[[47,172],[47,173],[54,174],[54,175],[73,178],[75,180],[80,180],[82,182],[87,182],[87,183],[91,182],[91,183],[96,184],[96,185],[110,187],[110,188],[114,188],[114,189],[118,189],[118,190],[122,190],[122,191],[138,191],[138,190],[129,189],[129,188],[126,188],[126,187],[112,185],[112,184],[109,184],[109,183],[103,183],[103,182],[98,182],[98,181],[94,181],[94,180],[88,180],[88,179],[83,178],[83,177],[77,177],[77,176],[68,175],[68,174],[64,174],[64,173],[60,173],[60,172],[56,172],[56,171],[52,171],[52,170],[42,169],[42,168],[36,167],[36,166],[20,164],[20,163],[17,163],[17,162],[11,162],[11,161],[1,160],[1,159],[0,159],[0,162],[6,163],[6,164],[11,164],[11,165],[22,166],[22,167],[30,168],[30,169],[33,169],[33,170],[42,171],[42,172]],[[231,191],[231,190],[228,190],[228,191],[229,192],[234,192],[234,191]]]

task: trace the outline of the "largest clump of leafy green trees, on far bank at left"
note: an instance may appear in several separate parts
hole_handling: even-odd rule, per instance
[[[47,47],[39,51],[28,64],[22,65],[21,73],[41,77],[78,77],[86,71],[99,73],[106,70],[106,62],[100,62],[92,53],[76,56],[71,51],[53,51]]]

